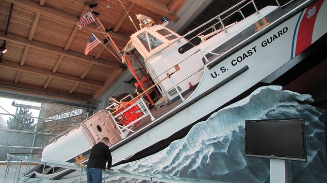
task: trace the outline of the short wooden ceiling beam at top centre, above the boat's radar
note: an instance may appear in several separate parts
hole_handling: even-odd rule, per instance
[[[158,0],[130,0],[131,2],[138,4],[151,12],[155,12],[162,16],[169,18],[170,20],[177,21],[178,16],[169,12],[168,6]]]

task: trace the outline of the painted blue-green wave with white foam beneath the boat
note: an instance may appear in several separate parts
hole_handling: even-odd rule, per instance
[[[245,120],[304,118],[307,162],[286,161],[289,183],[325,183],[326,111],[311,106],[311,95],[260,87],[251,95],[197,123],[164,150],[114,169],[211,181],[269,183],[269,159],[245,157]],[[78,177],[57,183],[79,182]],[[34,180],[33,180],[34,179]],[[35,178],[25,180],[36,181]],[[140,183],[144,180],[107,176],[106,182]],[[82,176],[86,182],[86,176]]]

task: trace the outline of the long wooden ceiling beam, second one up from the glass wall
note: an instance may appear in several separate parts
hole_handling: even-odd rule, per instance
[[[3,59],[2,59],[2,62],[0,62],[0,67],[10,68],[10,69],[14,69],[14,70],[20,70],[22,72],[32,73],[32,74],[36,74],[36,75],[43,75],[43,76],[47,76],[47,77],[51,76],[53,78],[57,78],[57,79],[64,80],[64,81],[80,82],[82,84],[87,84],[87,85],[96,86],[96,87],[103,86],[103,82],[99,82],[96,80],[91,80],[91,79],[81,80],[79,77],[76,77],[76,76],[59,73],[59,72],[54,74],[50,70],[36,68],[33,66],[25,65],[22,67],[19,64],[17,64],[16,62],[3,60]]]

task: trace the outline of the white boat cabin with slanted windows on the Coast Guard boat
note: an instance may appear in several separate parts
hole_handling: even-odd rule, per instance
[[[185,51],[185,45],[189,50]],[[157,90],[167,103],[174,98],[182,98],[181,94],[201,79],[202,56],[197,53],[196,46],[189,45],[185,38],[162,25],[144,27],[131,35],[124,49],[123,62],[138,83],[144,85],[142,89],[160,82]],[[180,70],[161,81],[175,71],[176,65]],[[152,84],[149,84],[149,79]]]

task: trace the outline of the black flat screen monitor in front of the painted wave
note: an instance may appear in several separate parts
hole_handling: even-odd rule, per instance
[[[245,120],[245,156],[307,161],[304,119]]]

